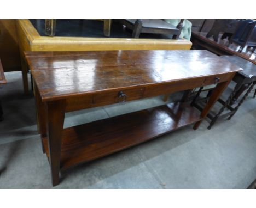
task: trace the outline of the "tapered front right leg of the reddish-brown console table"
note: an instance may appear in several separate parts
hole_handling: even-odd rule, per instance
[[[232,79],[232,78],[231,78]],[[228,87],[230,81],[218,83],[216,88],[213,89],[212,95],[210,96],[208,102],[205,105],[205,108],[203,108],[201,113],[202,120],[206,117],[206,115],[210,112],[211,108],[213,107],[214,103],[219,99],[219,96],[223,93],[226,87]],[[202,120],[195,123],[193,129],[196,130],[200,124],[202,123]]]

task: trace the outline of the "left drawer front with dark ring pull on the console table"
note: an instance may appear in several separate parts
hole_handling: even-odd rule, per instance
[[[110,93],[95,94],[92,99],[92,105],[103,106],[113,103],[123,103],[131,100],[143,98],[145,88],[135,88],[127,90],[112,91]]]

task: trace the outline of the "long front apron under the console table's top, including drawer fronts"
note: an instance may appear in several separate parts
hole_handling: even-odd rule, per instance
[[[126,101],[139,100],[147,97],[153,97],[163,94],[172,94],[178,91],[184,91],[188,89],[193,89],[201,87],[204,85],[214,84],[214,79],[219,78],[218,83],[225,82],[233,76],[234,73],[214,75],[207,77],[196,77],[191,79],[186,79],[184,81],[175,81],[172,83],[161,83],[148,85],[146,87],[133,87],[131,89],[116,89],[112,91],[98,92],[88,95],[79,95],[66,98],[66,108],[65,112],[78,111],[80,109],[92,108],[98,106],[111,105],[114,103],[119,103],[118,95],[122,91],[127,95]]]

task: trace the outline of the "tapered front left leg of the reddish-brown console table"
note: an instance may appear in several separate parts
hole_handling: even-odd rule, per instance
[[[47,102],[48,122],[47,138],[49,147],[49,161],[53,186],[59,184],[61,138],[65,118],[65,100]]]

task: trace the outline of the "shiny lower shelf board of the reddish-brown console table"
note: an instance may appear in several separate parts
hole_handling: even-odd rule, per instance
[[[61,169],[112,154],[201,120],[185,103],[145,109],[63,130]],[[49,157],[47,139],[44,149]]]

